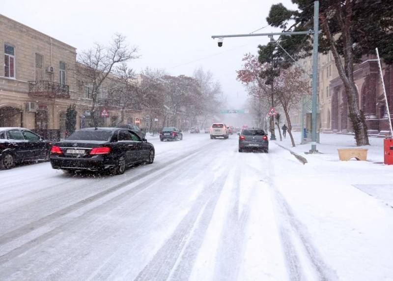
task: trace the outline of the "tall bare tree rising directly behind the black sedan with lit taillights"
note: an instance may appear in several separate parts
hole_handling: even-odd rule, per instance
[[[104,81],[118,64],[139,58],[137,51],[137,47],[128,46],[123,35],[115,34],[108,46],[95,43],[93,48],[78,55],[75,72],[81,83],[89,85],[89,97],[92,99],[90,111],[93,113],[94,123],[97,96]]]

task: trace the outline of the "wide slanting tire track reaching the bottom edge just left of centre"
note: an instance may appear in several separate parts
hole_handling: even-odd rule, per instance
[[[203,242],[204,234],[227,180],[229,169],[230,167],[226,167],[216,180],[204,187],[190,211],[178,224],[176,230],[135,280],[167,280],[176,262],[178,264],[177,268],[174,269],[173,280],[187,279],[185,276],[188,277],[191,274],[197,250]],[[199,225],[200,227],[198,227]],[[196,239],[194,240],[194,238]]]

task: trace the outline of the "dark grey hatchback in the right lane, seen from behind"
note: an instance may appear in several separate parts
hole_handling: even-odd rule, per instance
[[[239,152],[246,149],[269,152],[269,140],[264,130],[259,128],[243,129],[239,133]]]

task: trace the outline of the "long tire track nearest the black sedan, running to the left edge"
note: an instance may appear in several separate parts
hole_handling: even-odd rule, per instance
[[[218,144],[218,142],[216,142],[214,144],[210,144],[209,143],[207,145],[202,146],[202,148],[206,147],[206,146],[214,146],[214,145],[217,145],[217,144]],[[11,242],[11,241],[13,241],[13,240],[15,240],[15,239],[17,239],[17,238],[19,238],[21,236],[24,236],[24,235],[28,234],[29,232],[31,232],[31,231],[39,228],[39,227],[42,227],[42,226],[44,226],[46,224],[49,224],[50,222],[52,222],[52,221],[54,221],[54,220],[56,220],[56,219],[58,219],[60,217],[63,217],[65,215],[68,215],[69,213],[72,213],[72,212],[74,212],[74,211],[76,211],[78,209],[81,209],[84,206],[86,206],[86,205],[88,205],[90,203],[93,203],[93,202],[101,199],[102,197],[107,196],[107,195],[109,195],[109,194],[111,194],[111,193],[113,193],[113,192],[115,192],[115,191],[117,191],[117,190],[119,190],[119,189],[121,189],[123,187],[127,187],[128,185],[132,184],[135,181],[138,181],[138,180],[141,180],[141,179],[143,179],[145,177],[148,177],[148,176],[150,176],[154,172],[158,172],[158,171],[160,171],[160,170],[162,170],[164,168],[168,168],[168,167],[170,167],[172,165],[177,164],[177,162],[179,162],[181,160],[184,160],[186,158],[194,156],[195,154],[200,152],[200,149],[201,149],[201,147],[199,147],[198,149],[195,149],[195,150],[193,150],[191,152],[188,152],[188,153],[186,153],[184,155],[177,156],[177,157],[175,157],[174,159],[171,159],[168,162],[165,162],[165,163],[163,163],[163,164],[161,164],[159,166],[156,166],[156,167],[154,167],[152,169],[149,169],[149,170],[147,170],[147,171],[145,171],[145,172],[143,172],[143,173],[141,173],[141,174],[139,174],[137,176],[134,176],[134,177],[132,177],[132,178],[130,178],[130,179],[124,181],[124,182],[116,184],[116,185],[114,185],[114,186],[112,186],[112,187],[110,187],[110,188],[108,188],[108,189],[106,189],[104,191],[101,191],[101,192],[99,192],[97,194],[89,196],[89,197],[87,197],[87,198],[85,198],[85,199],[83,199],[81,201],[78,201],[78,202],[76,202],[74,204],[71,204],[71,205],[69,205],[69,206],[67,206],[67,207],[65,207],[63,209],[60,209],[60,210],[58,210],[58,211],[56,211],[56,212],[54,212],[54,213],[52,213],[52,214],[50,214],[48,216],[45,216],[45,217],[43,217],[41,219],[32,221],[32,222],[30,222],[28,224],[25,224],[25,225],[23,225],[21,227],[18,227],[16,229],[12,230],[10,232],[4,233],[3,235],[0,236],[0,246],[3,245],[3,244],[6,244],[8,242]],[[162,173],[162,174],[165,174],[165,172]],[[158,176],[159,175],[156,175],[155,177],[158,177]],[[140,187],[140,185],[139,185],[139,187]],[[141,186],[141,187],[143,187],[143,186]],[[0,257],[0,260],[1,260],[1,257]]]

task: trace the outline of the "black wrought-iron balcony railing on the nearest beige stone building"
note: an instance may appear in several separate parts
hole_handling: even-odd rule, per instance
[[[34,97],[70,98],[70,88],[51,81],[28,81],[28,94]]]

